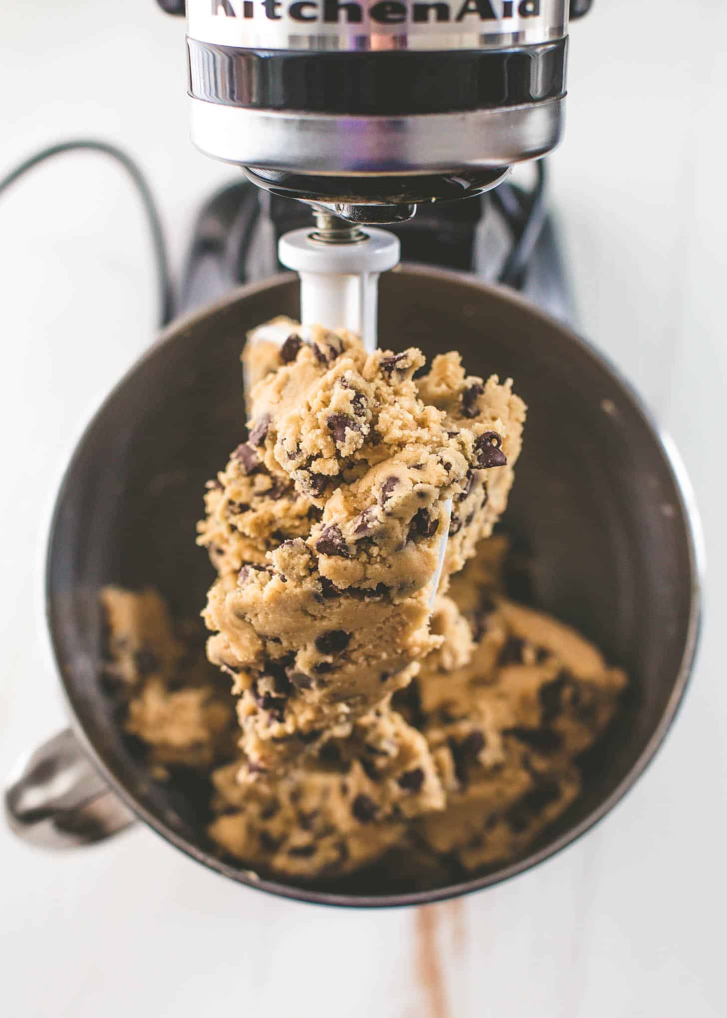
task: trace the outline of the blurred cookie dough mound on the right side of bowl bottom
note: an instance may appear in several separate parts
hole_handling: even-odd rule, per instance
[[[404,716],[427,738],[446,811],[416,831],[466,869],[516,855],[580,791],[574,759],[611,722],[626,678],[570,627],[516,605],[474,562],[440,600],[433,628],[464,646],[468,662],[442,651],[401,694]]]

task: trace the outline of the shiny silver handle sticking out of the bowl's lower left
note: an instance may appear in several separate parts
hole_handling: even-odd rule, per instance
[[[19,761],[4,800],[14,834],[43,848],[93,845],[134,822],[69,728]]]

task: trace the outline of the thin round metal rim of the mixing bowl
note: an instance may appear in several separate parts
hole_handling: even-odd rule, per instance
[[[206,304],[201,308],[197,308],[174,320],[160,332],[154,342],[141,354],[139,357],[134,360],[130,367],[124,372],[123,376],[114,385],[101,405],[96,409],[91,420],[88,422],[82,431],[82,434],[78,438],[73,454],[64,470],[63,477],[58,489],[46,545],[46,622],[50,632],[56,667],[60,676],[61,688],[70,714],[71,728],[88,753],[92,764],[101,774],[103,779],[108,783],[114,793],[118,795],[122,802],[128,806],[131,812],[138,819],[147,824],[166,842],[220,875],[227,876],[237,884],[241,884],[255,890],[264,891],[276,897],[287,898],[298,902],[307,902],[311,904],[348,908],[397,908],[411,905],[428,905],[436,902],[447,901],[451,898],[458,898],[462,895],[471,894],[476,891],[482,891],[485,888],[494,887],[497,884],[502,884],[505,881],[511,880],[513,876],[517,876],[519,873],[525,872],[540,863],[545,862],[547,859],[550,859],[554,855],[563,851],[563,849],[567,848],[569,845],[572,845],[586,832],[591,831],[608,812],[613,809],[618,802],[621,801],[626,792],[633,787],[636,781],[647,770],[648,766],[654,759],[657,750],[664,742],[667,732],[673,724],[679,706],[683,701],[684,693],[688,686],[696,655],[702,623],[704,538],[694,493],[676,445],[670,436],[657,425],[652,412],[648,409],[642,398],[636,392],[631,383],[621,374],[621,372],[607,356],[605,356],[586,339],[579,336],[572,328],[570,328],[569,325],[565,322],[559,321],[547,312],[544,312],[537,304],[533,303],[530,300],[521,296],[514,290],[504,286],[484,282],[466,272],[439,269],[415,263],[406,263],[405,265],[399,266],[396,270],[396,274],[404,274],[425,279],[437,278],[463,284],[469,289],[486,292],[490,295],[496,296],[499,300],[518,306],[526,310],[532,317],[547,323],[550,327],[555,326],[562,332],[566,333],[570,341],[579,347],[583,353],[595,359],[623,390],[625,395],[631,401],[633,409],[636,410],[644,423],[647,426],[647,429],[654,436],[655,443],[664,457],[665,465],[671,473],[674,489],[678,496],[678,507],[688,550],[690,572],[689,617],[679,669],[659,724],[652,733],[639,756],[633,762],[628,773],[624,776],[617,787],[598,806],[592,809],[591,812],[584,816],[582,821],[580,821],[580,823],[574,825],[572,828],[569,828],[567,831],[559,835],[558,838],[555,838],[553,841],[544,845],[537,851],[527,853],[522,858],[510,863],[507,866],[503,866],[481,876],[460,881],[455,884],[448,884],[442,888],[436,888],[434,890],[381,895],[351,895],[339,894],[331,891],[319,891],[313,888],[307,889],[304,886],[286,884],[277,880],[260,876],[254,870],[241,869],[232,866],[211,852],[205,851],[193,843],[187,841],[182,836],[176,834],[163,822],[163,819],[161,819],[161,817],[156,815],[156,813],[152,810],[148,809],[131,794],[131,792],[127,790],[121,778],[115,773],[113,767],[107,764],[104,759],[103,746],[95,744],[83,729],[76,709],[77,697],[74,696],[70,685],[67,683],[66,675],[60,665],[62,660],[61,641],[57,631],[58,627],[54,616],[54,607],[51,597],[53,544],[59,522],[61,506],[64,502],[65,492],[69,485],[70,476],[73,473],[76,461],[79,458],[80,450],[91,432],[95,428],[97,420],[103,415],[109,403],[116,397],[116,394],[123,388],[127,380],[141,367],[142,364],[145,363],[149,357],[155,355],[161,346],[173,342],[175,338],[186,329],[192,328],[218,312],[234,305],[240,299],[253,296],[264,290],[289,285],[289,283],[295,278],[293,273],[281,273],[273,278],[238,287],[219,300]]]

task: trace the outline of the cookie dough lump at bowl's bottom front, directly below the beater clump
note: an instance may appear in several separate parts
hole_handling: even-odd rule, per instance
[[[248,865],[291,876],[358,869],[401,840],[407,819],[445,804],[426,739],[388,708],[277,781],[240,783],[238,772],[214,775],[211,836]]]

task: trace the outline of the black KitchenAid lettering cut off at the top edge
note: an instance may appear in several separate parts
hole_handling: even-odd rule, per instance
[[[359,3],[357,0],[294,0],[293,3],[285,3],[283,0],[242,0],[242,3],[234,5],[232,0],[211,0],[211,12],[221,17],[242,20],[264,17],[269,21],[280,21],[289,18],[292,21],[318,21],[323,24],[360,24],[365,15],[379,24],[403,24],[406,21],[413,21],[415,24],[452,21],[471,23],[477,20],[508,22],[539,17],[541,0],[501,0],[496,3],[492,0],[457,0],[456,3],[446,3],[444,0],[437,0],[435,3],[377,0],[373,4]]]

